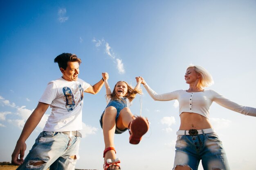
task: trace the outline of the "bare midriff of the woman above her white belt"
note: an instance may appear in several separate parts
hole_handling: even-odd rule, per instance
[[[209,119],[198,113],[182,112],[180,114],[180,130],[212,128]]]

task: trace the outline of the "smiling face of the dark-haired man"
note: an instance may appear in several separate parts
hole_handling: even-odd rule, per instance
[[[67,62],[66,70],[63,68],[60,68],[60,70],[63,74],[62,78],[66,81],[77,81],[79,74],[79,63],[77,61]]]

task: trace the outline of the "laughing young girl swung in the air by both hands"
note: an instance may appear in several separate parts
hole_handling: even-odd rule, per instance
[[[129,129],[129,142],[131,144],[139,144],[142,136],[148,131],[149,124],[147,119],[139,116],[135,117],[128,108],[136,94],[141,94],[139,86],[142,80],[138,79],[134,89],[125,81],[118,81],[113,92],[111,92],[107,79],[103,76],[106,87],[107,107],[101,115],[100,124],[105,142],[103,168],[104,170],[111,170],[121,169],[120,160],[115,155],[114,134],[121,134]]]

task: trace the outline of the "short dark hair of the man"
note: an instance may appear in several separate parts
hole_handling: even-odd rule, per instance
[[[63,52],[62,54],[58,55],[54,59],[54,63],[58,63],[59,68],[63,68],[66,70],[67,68],[67,62],[78,62],[79,65],[82,63],[81,59],[79,59],[76,54],[71,54],[71,53],[65,53]]]

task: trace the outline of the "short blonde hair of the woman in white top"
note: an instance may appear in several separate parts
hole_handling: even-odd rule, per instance
[[[195,72],[200,74],[201,78],[200,81],[198,82],[198,87],[203,88],[203,87],[209,87],[213,85],[214,81],[211,76],[211,74],[202,66],[200,65],[189,65],[189,67],[186,69],[188,70],[189,68],[194,68]]]

